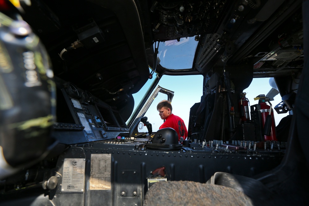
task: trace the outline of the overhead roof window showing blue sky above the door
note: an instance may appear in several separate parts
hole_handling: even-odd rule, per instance
[[[192,69],[197,43],[194,36],[160,42],[158,63],[167,69]],[[155,44],[158,45],[157,42]]]

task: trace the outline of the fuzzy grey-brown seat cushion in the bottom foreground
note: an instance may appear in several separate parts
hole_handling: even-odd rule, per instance
[[[190,181],[158,182],[149,188],[144,206],[253,205],[242,191],[221,185]]]

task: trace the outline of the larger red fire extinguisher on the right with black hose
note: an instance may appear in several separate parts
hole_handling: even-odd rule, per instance
[[[263,134],[265,141],[277,141],[275,119],[273,116],[272,104],[269,102],[269,98],[265,95],[259,95],[254,100],[259,100],[260,114],[263,123]],[[268,102],[269,105],[266,103]]]

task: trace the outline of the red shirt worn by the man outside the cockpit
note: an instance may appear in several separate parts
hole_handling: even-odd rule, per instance
[[[178,134],[178,141],[180,141],[180,137],[183,137],[184,140],[188,137],[188,130],[186,128],[186,125],[184,125],[184,120],[182,120],[179,116],[176,116],[174,114],[169,115],[159,129],[167,127],[176,130]]]

